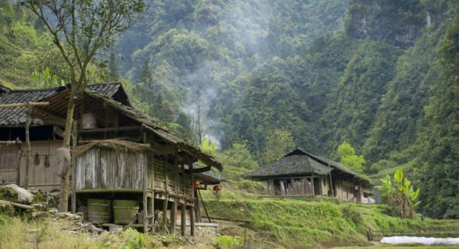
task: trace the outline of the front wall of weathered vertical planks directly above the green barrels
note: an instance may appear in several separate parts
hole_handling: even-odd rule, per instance
[[[78,156],[76,189],[142,190],[144,153],[94,147]]]

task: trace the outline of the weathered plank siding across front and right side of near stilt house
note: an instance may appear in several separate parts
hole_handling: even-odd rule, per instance
[[[154,166],[152,166],[146,160],[148,153],[120,152],[100,147],[89,149],[89,151],[78,155],[76,189],[124,188],[142,190],[144,164],[149,164],[149,169],[152,167],[154,169],[148,171],[147,188],[155,191],[160,189],[166,191],[168,195],[177,194],[192,197],[191,174],[181,171],[177,166],[179,182],[176,193],[174,166],[164,162],[165,157],[156,157],[153,162]]]

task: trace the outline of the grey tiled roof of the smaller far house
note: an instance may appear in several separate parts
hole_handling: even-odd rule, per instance
[[[295,149],[284,155],[276,162],[267,164],[265,166],[260,166],[258,169],[252,171],[251,173],[247,173],[244,176],[249,178],[260,178],[277,175],[326,175],[331,170],[341,171],[366,181],[365,178],[346,168],[346,166],[343,166],[338,162],[334,162],[319,155],[314,155],[303,151],[302,149]]]

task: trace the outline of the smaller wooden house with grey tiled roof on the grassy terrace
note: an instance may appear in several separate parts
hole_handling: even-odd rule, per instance
[[[271,196],[335,196],[363,202],[363,190],[370,186],[366,178],[338,162],[302,149],[260,166],[245,177],[265,183]]]

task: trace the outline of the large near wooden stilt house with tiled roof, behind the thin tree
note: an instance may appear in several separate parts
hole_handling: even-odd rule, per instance
[[[49,105],[27,111],[32,117],[28,153],[32,163],[26,165],[22,155],[18,167],[11,162],[17,162],[17,153],[1,154],[5,160],[0,164],[0,184],[15,182],[45,191],[59,190],[54,151],[63,142],[59,134],[65,127],[68,100],[76,98],[71,151],[76,159],[71,167],[72,212],[87,213],[89,221],[99,221],[102,226],[118,223],[141,227],[144,232],[175,232],[177,213],[186,217],[188,211],[190,233],[194,235],[194,177],[212,167],[222,170],[221,164],[134,109],[120,83],[89,85],[78,96],[69,94],[67,87],[2,90],[0,105],[38,100]],[[0,121],[0,140],[25,140],[21,116],[26,116],[24,108],[0,108],[0,118],[6,120]],[[8,149],[18,151],[12,145]],[[205,166],[194,169],[193,163],[198,160]],[[94,216],[98,213],[94,207],[104,205],[113,208],[107,208],[101,217]],[[116,214],[123,208],[124,217],[117,222]],[[185,235],[184,222],[181,228]]]

